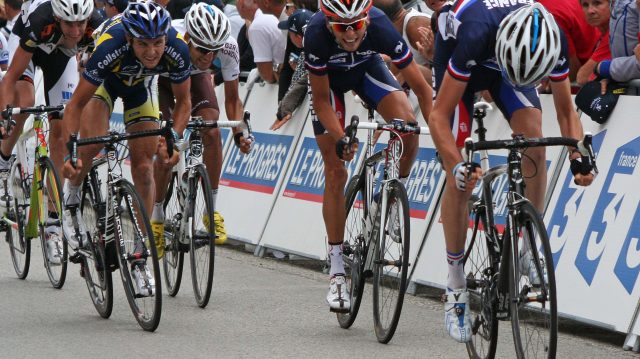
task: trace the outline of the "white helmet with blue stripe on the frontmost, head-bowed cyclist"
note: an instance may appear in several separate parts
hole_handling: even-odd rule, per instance
[[[560,30],[540,3],[523,6],[500,23],[496,59],[516,86],[531,86],[548,76],[560,57]]]

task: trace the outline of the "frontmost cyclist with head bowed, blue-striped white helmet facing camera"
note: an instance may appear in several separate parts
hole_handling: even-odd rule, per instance
[[[456,341],[466,342],[471,339],[462,263],[467,200],[482,171],[474,165],[467,173],[460,148],[471,133],[474,94],[489,90],[514,133],[541,137],[542,112],[535,85],[548,76],[562,135],[582,138],[583,132],[571,101],[566,41],[542,5],[459,0],[445,6],[438,20],[437,97],[428,122],[447,176],[441,205],[449,270],[445,328]],[[579,163],[579,157],[571,151],[576,183],[589,185],[593,174],[582,175],[580,170],[590,172],[590,164]],[[540,211],[546,187],[544,163],[543,148],[527,150],[523,159],[527,197]],[[540,278],[533,278],[535,271],[528,271],[530,262],[530,258],[521,259],[521,270],[529,274],[532,284],[540,283]]]

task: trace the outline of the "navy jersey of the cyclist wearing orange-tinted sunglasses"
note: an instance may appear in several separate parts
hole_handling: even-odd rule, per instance
[[[378,54],[391,57],[400,69],[413,60],[409,46],[391,20],[375,7],[369,11],[367,32],[354,52],[347,52],[338,45],[326,21],[324,13],[315,13],[304,33],[305,66],[314,75],[325,75],[330,70],[351,70],[374,57],[379,58]]]

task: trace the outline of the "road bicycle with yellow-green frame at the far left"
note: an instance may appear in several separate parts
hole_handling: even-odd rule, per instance
[[[4,188],[11,189],[3,196],[6,213],[0,221],[0,230],[6,232],[11,261],[18,278],[25,279],[31,262],[31,239],[40,237],[44,267],[54,288],[64,285],[67,273],[67,243],[62,235],[62,185],[47,145],[48,114],[61,111],[63,106],[7,107],[2,111],[9,130],[12,116],[34,114],[33,125],[23,132],[16,143],[9,177]],[[61,116],[52,116],[60,118]],[[30,146],[35,142],[35,150]],[[57,238],[58,241],[49,238]],[[50,258],[47,246],[59,257]]]

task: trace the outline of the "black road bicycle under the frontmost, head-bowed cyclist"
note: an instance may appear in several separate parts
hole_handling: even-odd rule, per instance
[[[542,217],[524,194],[522,158],[527,148],[570,146],[597,173],[592,136],[586,134],[578,141],[513,135],[509,140],[487,141],[483,118],[489,108],[486,103],[476,104],[479,140],[468,138],[463,153],[465,161],[470,161],[474,152],[480,152],[484,172],[481,194],[470,201],[473,230],[463,258],[472,328],[467,351],[471,358],[493,358],[498,323],[510,320],[518,358],[555,358],[558,308],[553,258]],[[508,150],[507,164],[489,168],[487,151],[496,149]],[[493,185],[503,174],[508,191],[506,225],[501,230],[494,214]]]

